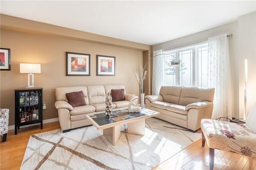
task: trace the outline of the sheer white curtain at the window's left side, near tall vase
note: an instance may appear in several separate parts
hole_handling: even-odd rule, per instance
[[[162,54],[162,50],[154,51],[153,57]],[[160,88],[164,85],[164,55],[156,56],[153,58],[153,78],[152,78],[152,93],[159,94]]]

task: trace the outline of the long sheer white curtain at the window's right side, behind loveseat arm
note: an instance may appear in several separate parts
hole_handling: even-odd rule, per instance
[[[208,87],[215,87],[212,119],[232,117],[232,93],[227,34],[208,38]]]

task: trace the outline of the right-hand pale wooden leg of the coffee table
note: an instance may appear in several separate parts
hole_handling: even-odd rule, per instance
[[[138,120],[136,122],[128,123],[127,133],[135,135],[145,134],[145,119]]]

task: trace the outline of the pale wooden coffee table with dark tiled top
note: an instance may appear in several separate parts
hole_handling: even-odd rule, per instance
[[[120,137],[120,125],[128,124],[127,133],[145,134],[145,118],[158,116],[160,113],[142,108],[140,113],[129,113],[127,109],[113,111],[112,118],[106,118],[104,113],[87,115],[97,130],[103,130],[103,135],[112,136],[112,144],[116,145]]]

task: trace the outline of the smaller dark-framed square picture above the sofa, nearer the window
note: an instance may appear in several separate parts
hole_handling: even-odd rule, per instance
[[[116,57],[96,55],[97,76],[116,76]]]

